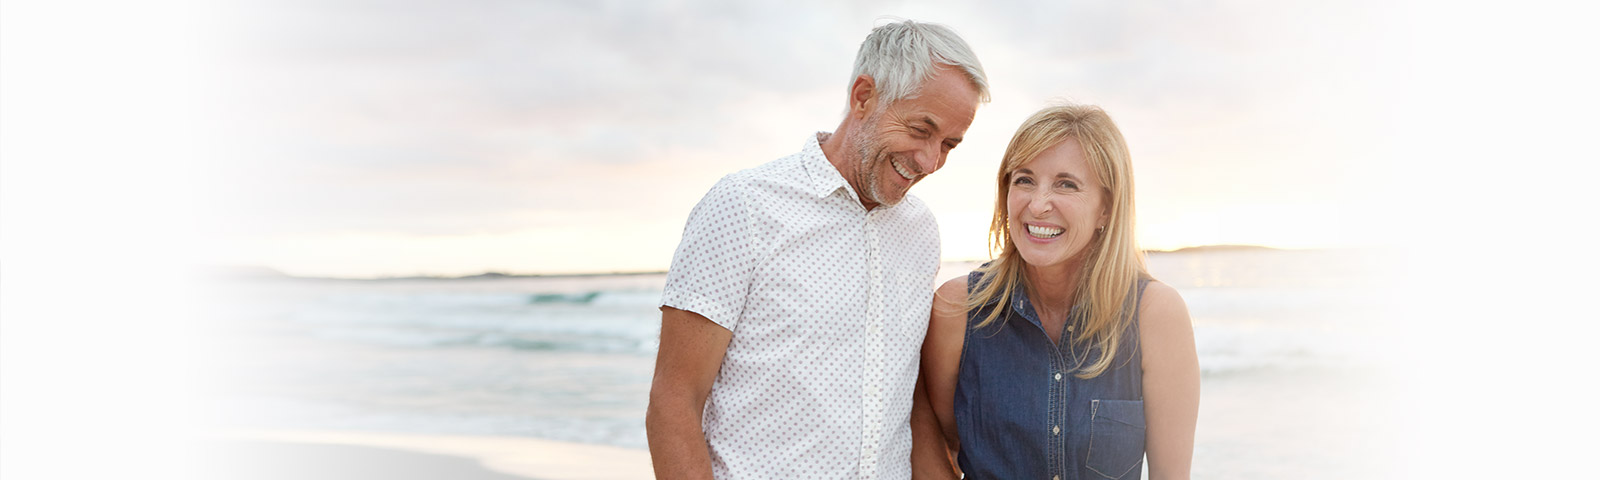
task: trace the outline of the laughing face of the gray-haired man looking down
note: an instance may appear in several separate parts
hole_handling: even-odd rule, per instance
[[[978,88],[939,66],[915,98],[874,106],[850,134],[861,162],[851,184],[867,208],[899,203],[910,186],[944,166],[978,114]]]

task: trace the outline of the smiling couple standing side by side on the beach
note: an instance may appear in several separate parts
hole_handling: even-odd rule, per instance
[[[877,27],[834,133],[694,206],[661,299],[658,478],[1139,478],[1146,454],[1152,478],[1189,477],[1194,331],[1134,246],[1106,112],[1022,123],[1000,256],[933,288],[938,227],[906,192],[987,96],[947,27]]]

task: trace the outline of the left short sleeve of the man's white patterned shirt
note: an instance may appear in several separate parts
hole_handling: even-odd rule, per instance
[[[757,251],[752,205],[738,181],[723,178],[683,226],[661,306],[699,314],[733,330],[744,312]]]

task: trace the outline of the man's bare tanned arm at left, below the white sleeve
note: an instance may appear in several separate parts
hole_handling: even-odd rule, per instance
[[[661,347],[645,411],[656,478],[710,478],[701,413],[731,339],[733,331],[699,314],[661,307]]]

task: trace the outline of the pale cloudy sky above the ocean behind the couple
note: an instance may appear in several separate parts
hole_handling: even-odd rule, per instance
[[[950,168],[971,174],[930,179],[942,194],[986,192],[968,178],[992,174],[1022,117],[1069,98],[1118,118],[1142,192],[1333,195],[1342,173],[1302,165],[1358,149],[1346,123],[1386,72],[1365,3],[302,0],[232,14],[211,221],[240,235],[682,218],[717,178],[837,125],[885,14],[955,27],[989,69],[995,102]],[[989,206],[939,202],[954,218]]]

